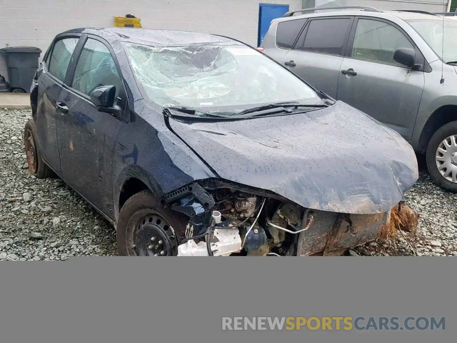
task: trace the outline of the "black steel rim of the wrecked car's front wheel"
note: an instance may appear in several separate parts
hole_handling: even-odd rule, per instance
[[[178,247],[170,222],[152,209],[141,209],[130,218],[126,245],[131,254],[151,257],[175,255]]]

